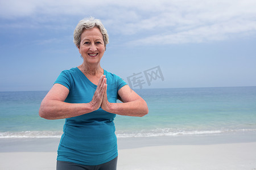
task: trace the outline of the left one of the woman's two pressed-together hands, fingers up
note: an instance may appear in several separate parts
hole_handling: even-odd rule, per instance
[[[94,92],[93,99],[90,101],[93,111],[96,111],[102,105],[102,100],[104,99],[104,94],[106,91],[106,75],[101,75],[100,80],[98,81],[98,86]]]

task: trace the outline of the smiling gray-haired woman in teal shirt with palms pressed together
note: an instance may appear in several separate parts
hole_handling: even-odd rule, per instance
[[[147,104],[119,76],[102,69],[109,40],[100,20],[81,20],[73,41],[84,61],[61,72],[39,109],[40,117],[65,118],[57,169],[116,169],[114,118],[142,117],[148,113]]]

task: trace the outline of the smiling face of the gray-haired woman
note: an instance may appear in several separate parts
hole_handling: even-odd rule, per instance
[[[84,62],[89,64],[99,63],[105,52],[105,45],[100,29],[94,27],[85,29],[81,34],[79,53]]]

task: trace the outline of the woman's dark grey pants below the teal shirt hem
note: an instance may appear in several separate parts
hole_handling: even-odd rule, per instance
[[[72,162],[64,162],[57,160],[57,170],[116,170],[117,157],[110,162],[100,165],[80,165]]]

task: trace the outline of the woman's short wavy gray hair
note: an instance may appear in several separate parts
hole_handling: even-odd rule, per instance
[[[109,43],[109,35],[106,31],[106,28],[101,23],[100,19],[94,19],[93,17],[85,18],[80,20],[80,22],[76,25],[75,31],[74,31],[74,39],[73,42],[75,45],[80,48],[80,42],[81,42],[81,34],[85,29],[92,29],[94,27],[97,27],[100,29],[101,34],[103,36],[104,45],[106,46]]]

